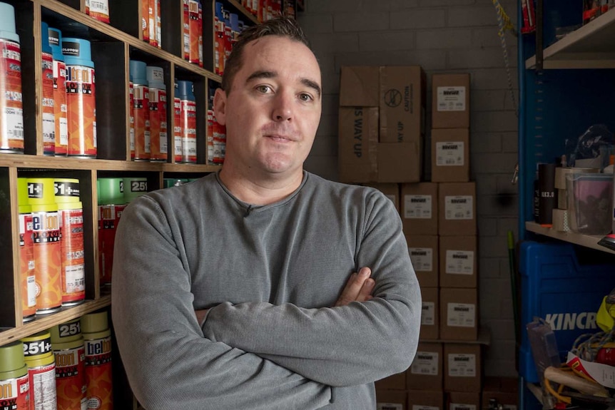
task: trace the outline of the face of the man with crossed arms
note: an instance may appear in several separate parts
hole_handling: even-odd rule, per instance
[[[226,125],[225,167],[258,177],[303,170],[320,122],[320,68],[303,43],[265,36],[246,44],[230,92],[215,96]]]

